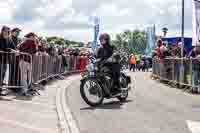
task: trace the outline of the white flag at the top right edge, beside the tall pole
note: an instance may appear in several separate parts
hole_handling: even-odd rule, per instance
[[[193,0],[193,38],[192,45],[200,45],[200,1]]]

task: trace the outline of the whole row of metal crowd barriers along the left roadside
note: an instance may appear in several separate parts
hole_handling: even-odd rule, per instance
[[[82,61],[82,57],[69,55],[0,52],[0,87],[23,88],[62,74],[81,72]]]

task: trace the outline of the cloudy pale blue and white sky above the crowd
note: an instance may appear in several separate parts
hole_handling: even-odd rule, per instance
[[[22,35],[61,36],[90,41],[91,16],[100,18],[100,32],[112,37],[123,30],[156,25],[157,34],[181,33],[181,0],[0,0],[0,27],[19,27]],[[185,35],[192,36],[192,0],[185,0]]]

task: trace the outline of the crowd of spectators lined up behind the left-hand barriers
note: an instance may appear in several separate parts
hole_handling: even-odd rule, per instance
[[[26,81],[30,79],[32,75],[27,73],[32,71],[32,56],[46,55],[46,56],[61,56],[63,69],[68,70],[75,67],[77,70],[84,70],[87,64],[87,56],[89,52],[84,48],[65,48],[64,46],[48,43],[42,37],[39,37],[33,32],[30,32],[19,38],[20,33],[23,32],[19,28],[11,29],[8,26],[3,26],[0,33],[0,95],[2,93],[3,85],[5,85],[6,71],[9,71],[8,86],[12,87],[13,91],[20,91],[22,95],[26,94],[27,87],[25,89],[18,89],[17,86],[28,86]],[[23,53],[23,56],[21,55]],[[27,54],[27,56],[26,56]],[[65,58],[69,56],[70,58]],[[67,61],[67,59],[69,61]],[[76,60],[76,64],[70,64],[69,62]],[[63,70],[64,71],[64,70]],[[14,76],[13,76],[14,75]]]

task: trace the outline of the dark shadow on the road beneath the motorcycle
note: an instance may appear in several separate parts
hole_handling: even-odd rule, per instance
[[[120,101],[111,101],[111,102],[107,102],[107,103],[104,103],[100,106],[97,106],[97,107],[84,107],[84,108],[81,108],[80,110],[96,110],[96,109],[121,109],[121,106],[124,105],[125,103],[129,103],[129,102],[132,102],[132,100],[127,100],[126,102],[122,103]]]

